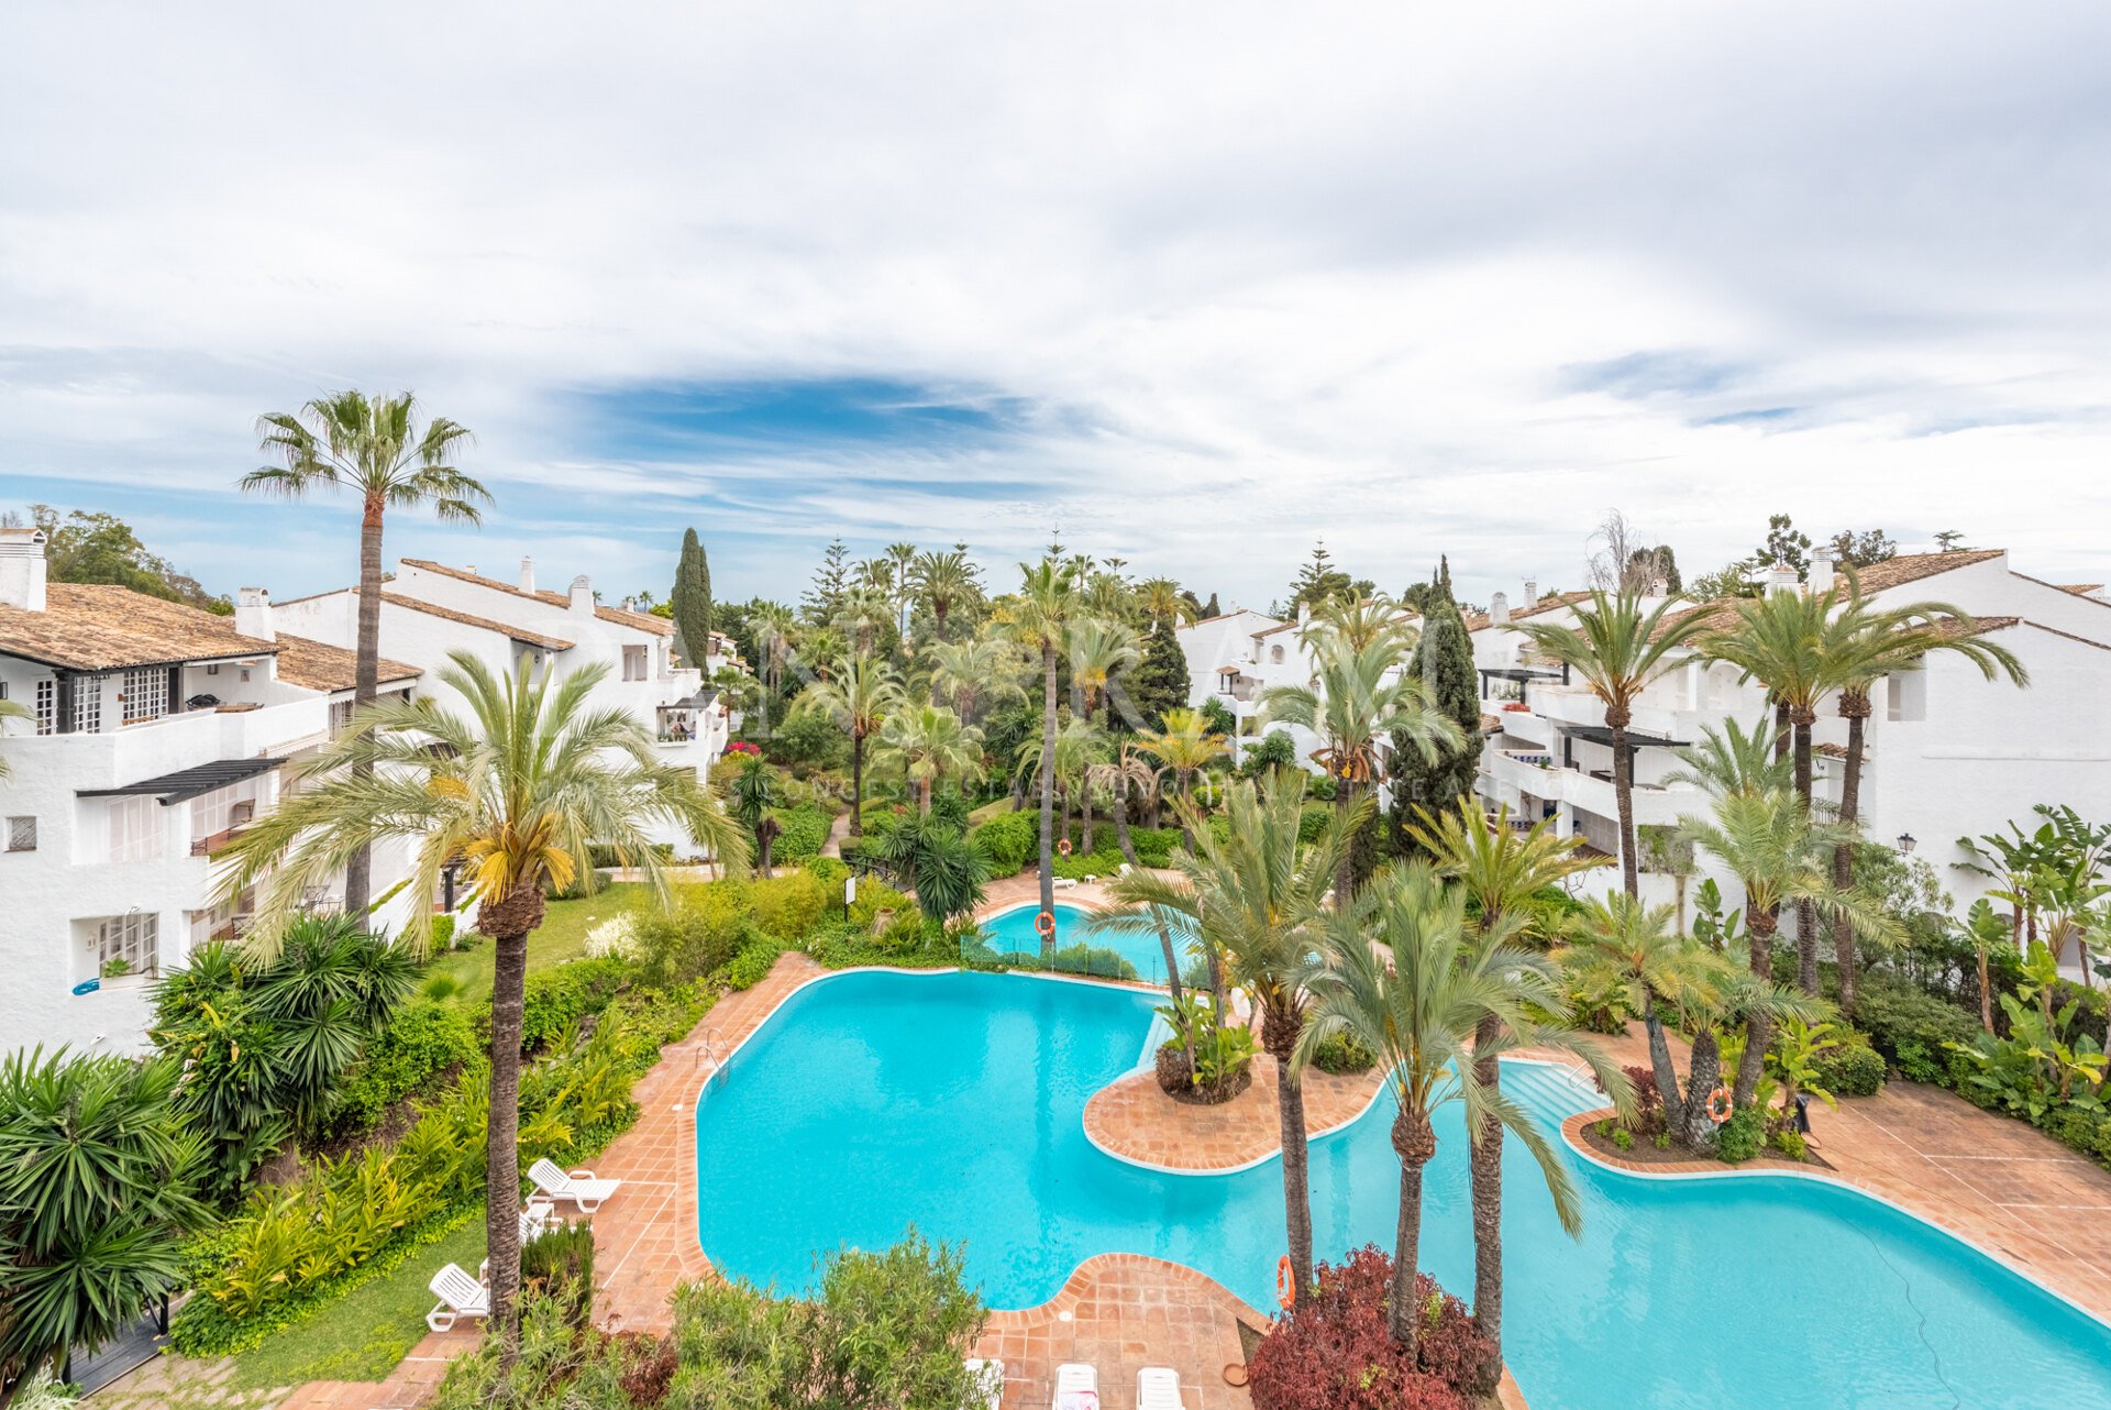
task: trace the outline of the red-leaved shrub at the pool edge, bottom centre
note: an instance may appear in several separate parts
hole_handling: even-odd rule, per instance
[[[1495,1391],[1495,1349],[1429,1275],[1414,1277],[1414,1351],[1385,1323],[1391,1256],[1366,1245],[1315,1277],[1245,1361],[1254,1410],[1467,1410]]]

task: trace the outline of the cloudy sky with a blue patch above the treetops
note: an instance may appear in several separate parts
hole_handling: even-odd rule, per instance
[[[2111,576],[2111,6],[8,6],[0,509],[355,576],[255,418],[412,388],[391,557],[798,595],[1051,536],[1222,604],[1767,515]]]

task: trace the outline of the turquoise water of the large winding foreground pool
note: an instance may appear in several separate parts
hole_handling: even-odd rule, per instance
[[[1085,1100],[1142,1055],[1150,996],[1026,975],[851,973],[796,994],[697,1108],[699,1237],[794,1290],[819,1250],[916,1224],[967,1243],[992,1307],[1034,1307],[1091,1254],[1201,1269],[1271,1304],[1275,1161],[1172,1176],[1085,1140]],[[1505,1064],[1549,1127],[1594,1106]],[[1321,1256],[1391,1245],[1385,1102],[1311,1152]],[[1423,1264],[1471,1288],[1465,1138],[1438,1121]],[[1651,1182],[1571,1161],[1583,1241],[1507,1142],[1505,1338],[1533,1410],[2111,1404],[2111,1330],[1927,1224],[1788,1176]],[[2077,1218],[2084,1218],[2077,1214]]]

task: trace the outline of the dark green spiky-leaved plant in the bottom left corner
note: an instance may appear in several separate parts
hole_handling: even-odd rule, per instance
[[[63,1047],[0,1062],[0,1406],[184,1285],[184,1239],[211,1214],[182,1076],[167,1058]]]

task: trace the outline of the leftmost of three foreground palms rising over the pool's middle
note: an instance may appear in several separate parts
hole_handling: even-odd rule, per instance
[[[1224,798],[1224,840],[1201,830],[1201,851],[1174,859],[1178,880],[1129,872],[1108,882],[1117,910],[1091,929],[1142,931],[1178,925],[1231,960],[1231,982],[1260,1009],[1260,1045],[1275,1060],[1275,1114],[1283,1146],[1283,1214],[1296,1296],[1313,1285],[1313,1212],[1307,1180],[1305,1085],[1292,1066],[1305,1028],[1305,979],[1319,952],[1334,857],[1349,846],[1340,819],[1298,846],[1302,770],[1277,770],[1258,789],[1235,783]],[[1370,821],[1366,800],[1349,827]]]

